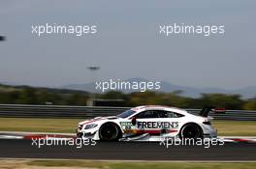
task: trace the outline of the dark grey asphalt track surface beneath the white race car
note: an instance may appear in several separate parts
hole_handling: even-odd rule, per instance
[[[0,140],[0,157],[114,160],[256,160],[256,144],[226,143],[209,149],[159,143],[104,142],[80,149],[72,146],[31,146],[31,140]]]

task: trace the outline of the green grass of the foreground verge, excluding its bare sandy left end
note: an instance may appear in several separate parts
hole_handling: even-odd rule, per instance
[[[86,160],[33,160],[27,165],[43,167],[85,167],[108,169],[255,169],[256,162],[248,163],[221,163],[221,162],[114,162],[114,161],[86,161]]]

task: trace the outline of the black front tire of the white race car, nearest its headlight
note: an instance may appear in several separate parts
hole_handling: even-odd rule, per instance
[[[103,124],[99,129],[101,141],[117,141],[120,138],[120,128],[114,123]]]

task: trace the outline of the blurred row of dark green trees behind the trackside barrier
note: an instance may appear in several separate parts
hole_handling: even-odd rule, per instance
[[[129,94],[110,91],[94,95],[97,99],[121,99],[124,106],[128,107],[159,104],[180,108],[202,108],[204,105],[214,105],[226,109],[256,110],[256,99],[242,99],[240,95],[202,94],[200,98],[187,98],[181,94],[182,91],[173,93],[146,91]],[[0,85],[0,103],[4,104],[86,105],[90,95],[76,90]]]

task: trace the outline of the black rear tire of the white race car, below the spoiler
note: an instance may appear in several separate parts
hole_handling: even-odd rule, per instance
[[[179,132],[179,138],[192,138],[192,139],[197,139],[197,138],[203,138],[204,133],[202,127],[200,127],[197,124],[194,123],[189,123],[185,124],[183,127],[181,127],[180,132]]]

